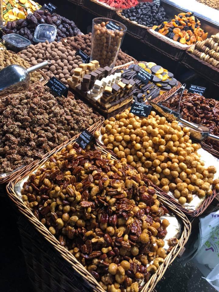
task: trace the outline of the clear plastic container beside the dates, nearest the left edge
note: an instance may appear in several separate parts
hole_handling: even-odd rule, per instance
[[[20,36],[16,33],[3,35],[2,39],[5,41],[5,46],[7,49],[12,50],[13,52],[24,50],[31,44],[30,40],[26,39],[26,37]]]

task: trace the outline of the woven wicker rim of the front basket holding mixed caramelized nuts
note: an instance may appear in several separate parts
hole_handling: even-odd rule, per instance
[[[60,148],[58,148],[55,152],[60,151],[62,148],[64,148],[67,144],[72,143],[74,139],[71,139],[71,141],[68,141],[67,143],[63,143]],[[98,148],[102,151],[103,154],[106,154],[108,151],[105,151],[101,145],[98,145]],[[9,184],[6,186],[7,193],[9,195],[9,198],[13,201],[13,203],[16,205],[16,207],[19,209],[19,211],[27,217],[27,219],[34,225],[34,227],[41,233],[41,235],[44,236],[44,238],[50,242],[54,248],[60,252],[61,256],[66,259],[72,266],[72,268],[78,272],[84,280],[91,285],[94,290],[103,292],[103,288],[99,285],[97,280],[82,266],[80,262],[75,259],[75,257],[66,250],[63,246],[60,245],[58,240],[48,231],[48,229],[36,219],[36,217],[33,215],[30,209],[26,207],[26,205],[23,203],[21,199],[19,199],[16,196],[16,193],[14,191],[15,184],[19,182],[21,179],[32,173],[35,169],[38,169],[41,165],[43,165],[51,156],[53,153],[50,153],[47,157],[45,157],[43,160],[41,160],[33,169],[30,171],[27,171],[26,173],[23,173],[22,176],[15,177],[12,181],[9,182]],[[112,156],[112,159],[117,160],[117,158]],[[173,214],[175,214],[176,217],[182,222],[182,231],[181,236],[179,238],[179,242],[177,245],[173,247],[173,249],[170,251],[170,253],[165,258],[164,263],[162,263],[159,267],[159,269],[156,271],[154,275],[151,276],[149,281],[144,285],[142,291],[144,292],[152,292],[155,288],[155,285],[158,283],[158,281],[162,278],[163,274],[165,273],[165,270],[167,267],[173,262],[173,260],[176,258],[177,255],[183,250],[184,245],[186,244],[190,232],[191,232],[191,223],[187,219],[187,217],[182,213],[179,208],[177,208],[175,205],[169,202],[165,202],[165,198],[162,197],[162,195],[158,194],[158,199],[169,209]],[[150,286],[150,287],[149,287]]]

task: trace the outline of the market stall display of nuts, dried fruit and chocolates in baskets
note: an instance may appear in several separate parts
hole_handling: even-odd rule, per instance
[[[152,292],[219,207],[219,102],[156,54],[218,86],[219,12],[72,2],[92,32],[56,3],[0,0],[1,188],[38,291]],[[127,34],[155,54],[131,56]]]

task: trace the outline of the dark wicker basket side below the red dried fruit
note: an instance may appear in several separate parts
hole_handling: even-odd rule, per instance
[[[117,10],[96,0],[84,0],[83,8],[99,17],[106,17],[112,19],[115,19]]]

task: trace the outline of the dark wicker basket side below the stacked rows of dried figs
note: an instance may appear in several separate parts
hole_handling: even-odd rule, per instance
[[[219,86],[219,69],[199,59],[188,51],[184,54],[181,63],[189,69],[208,79],[211,83]]]

